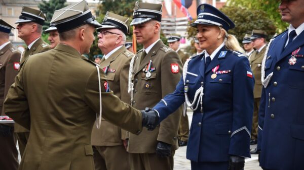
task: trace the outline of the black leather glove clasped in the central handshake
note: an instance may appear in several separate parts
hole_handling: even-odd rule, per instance
[[[153,109],[146,107],[141,110],[142,114],[142,126],[146,127],[148,131],[152,131],[159,124],[159,116]]]

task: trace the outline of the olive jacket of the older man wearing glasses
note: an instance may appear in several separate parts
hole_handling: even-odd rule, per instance
[[[107,82],[113,91],[122,101],[130,103],[128,93],[128,76],[130,59],[134,56],[132,52],[123,45],[112,53],[106,60],[103,58],[100,67],[106,73]],[[112,104],[113,107],[115,105]],[[110,114],[110,113],[109,113]],[[126,139],[126,131],[102,119],[100,129],[96,126],[92,131],[92,145],[94,146],[117,146],[122,145],[122,139]]]

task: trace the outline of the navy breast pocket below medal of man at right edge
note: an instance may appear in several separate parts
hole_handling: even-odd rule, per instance
[[[288,85],[291,88],[304,89],[304,58],[296,58],[294,65],[289,65]]]

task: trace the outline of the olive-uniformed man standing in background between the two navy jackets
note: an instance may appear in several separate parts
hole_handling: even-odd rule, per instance
[[[252,119],[252,130],[251,130],[251,141],[250,144],[257,143],[257,121],[258,121],[258,109],[260,105],[261,92],[262,92],[262,82],[261,82],[261,66],[262,60],[266,51],[266,38],[267,33],[262,30],[253,30],[251,35],[251,40],[253,47],[256,49],[249,57],[249,63],[251,66],[252,73],[255,78],[254,82],[254,109],[253,109],[253,119]],[[251,153],[256,153],[256,149],[251,151]]]

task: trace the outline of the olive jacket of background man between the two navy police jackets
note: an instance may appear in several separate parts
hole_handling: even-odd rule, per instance
[[[253,51],[249,58],[249,63],[255,80],[253,88],[254,98],[260,98],[262,94],[261,66],[266,48],[267,45],[265,45],[260,52],[257,52],[257,50]]]

